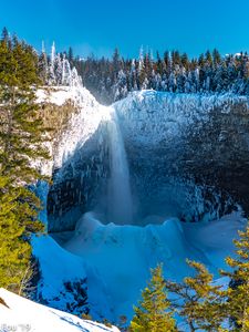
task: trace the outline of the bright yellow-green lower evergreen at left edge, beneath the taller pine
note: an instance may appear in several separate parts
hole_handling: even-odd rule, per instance
[[[19,193],[10,193],[8,181],[0,176],[0,286],[23,293],[32,277],[31,246],[25,240],[25,222],[20,222]]]

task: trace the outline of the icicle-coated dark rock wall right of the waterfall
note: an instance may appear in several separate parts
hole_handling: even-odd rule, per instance
[[[196,221],[220,217],[237,203],[248,210],[249,112],[235,95],[131,94],[114,105],[137,215]]]

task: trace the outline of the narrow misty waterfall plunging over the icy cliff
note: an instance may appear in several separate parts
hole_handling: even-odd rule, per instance
[[[115,110],[111,108],[108,122],[111,178],[108,183],[107,218],[115,224],[132,224],[133,203],[129,184],[129,170]]]

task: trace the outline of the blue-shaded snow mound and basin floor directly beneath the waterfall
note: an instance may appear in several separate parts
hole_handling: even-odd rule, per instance
[[[245,224],[239,211],[210,222],[183,224],[172,218],[146,227],[102,225],[96,216],[86,214],[63,247],[104,282],[114,308],[112,319],[117,321],[123,314],[132,318],[149,269],[158,262],[164,263],[166,278],[178,281],[193,273],[187,258],[204,262],[217,277],[217,269],[226,267],[224,259],[234,250],[231,239]],[[101,284],[94,288],[98,294],[103,291]]]

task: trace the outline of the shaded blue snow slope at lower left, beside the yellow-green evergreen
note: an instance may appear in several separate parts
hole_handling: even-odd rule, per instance
[[[80,282],[87,289],[87,304],[94,319],[113,320],[110,294],[105,281],[100,277],[95,267],[89,264],[83,258],[63,249],[50,236],[34,237],[32,239],[33,255],[39,258],[41,279],[38,284],[38,294],[48,301],[52,308],[66,311],[68,304],[77,305],[80,295],[66,291],[65,282]],[[40,295],[38,295],[38,300]],[[83,308],[74,311],[82,312]]]

